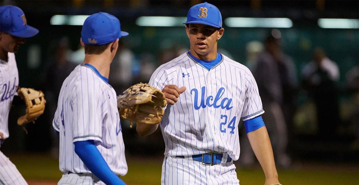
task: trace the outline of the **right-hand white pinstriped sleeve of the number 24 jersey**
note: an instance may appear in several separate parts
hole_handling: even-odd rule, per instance
[[[264,113],[256,80],[250,71],[246,74],[246,97],[244,98],[243,112],[241,116],[243,121],[255,118]]]

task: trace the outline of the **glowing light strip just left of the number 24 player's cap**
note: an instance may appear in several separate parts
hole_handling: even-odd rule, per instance
[[[138,26],[153,27],[183,27],[187,17],[168,17],[168,16],[141,16],[137,18]]]

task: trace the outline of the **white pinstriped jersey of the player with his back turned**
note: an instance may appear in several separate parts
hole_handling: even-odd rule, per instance
[[[90,174],[74,142],[94,140],[110,169],[126,175],[127,163],[115,90],[92,68],[79,65],[62,84],[53,127],[60,134],[60,170]]]

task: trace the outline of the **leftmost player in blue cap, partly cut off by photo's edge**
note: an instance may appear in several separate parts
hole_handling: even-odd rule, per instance
[[[0,6],[0,146],[9,137],[8,118],[19,73],[15,54],[25,38],[39,32],[27,25],[24,12],[17,6]],[[0,152],[0,184],[27,184],[15,165]]]

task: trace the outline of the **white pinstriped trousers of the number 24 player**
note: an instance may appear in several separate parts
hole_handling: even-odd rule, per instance
[[[184,158],[165,157],[161,184],[239,185],[239,180],[233,162],[209,166]]]

